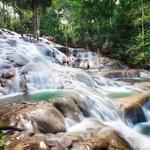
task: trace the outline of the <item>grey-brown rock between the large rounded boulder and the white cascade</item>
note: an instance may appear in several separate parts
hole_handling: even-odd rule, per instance
[[[53,105],[64,115],[64,117],[80,121],[79,115],[81,115],[81,111],[71,96],[65,97],[63,100],[56,101]]]

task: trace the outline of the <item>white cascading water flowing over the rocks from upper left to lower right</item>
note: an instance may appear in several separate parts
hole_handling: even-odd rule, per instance
[[[66,118],[68,131],[86,132],[95,127],[96,120],[120,132],[134,149],[150,149],[150,138],[140,133],[141,128],[130,126],[131,120],[128,120],[128,124],[120,108],[109,97],[111,93],[119,91],[143,91],[142,89],[129,83],[106,79],[96,71],[90,74],[81,69],[60,65],[62,58],[66,56],[56,48],[60,45],[53,42],[44,39],[37,42],[27,37],[23,39],[19,34],[7,30],[1,30],[1,33],[1,97],[25,90],[29,93],[42,89],[73,91],[84,102],[88,119],[83,114],[78,114],[80,122]],[[53,51],[56,57],[51,55]],[[145,106],[143,112],[149,123],[149,107]]]

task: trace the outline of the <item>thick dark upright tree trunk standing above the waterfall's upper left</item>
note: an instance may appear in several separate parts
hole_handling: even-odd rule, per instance
[[[37,6],[35,0],[33,0],[32,4],[32,13],[33,13],[33,22],[32,22],[32,29],[33,29],[33,36],[37,37]]]

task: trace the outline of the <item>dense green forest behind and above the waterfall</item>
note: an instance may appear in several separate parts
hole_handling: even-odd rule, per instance
[[[41,35],[57,42],[99,49],[132,67],[150,68],[149,0],[2,1],[0,27],[34,34],[40,28]]]

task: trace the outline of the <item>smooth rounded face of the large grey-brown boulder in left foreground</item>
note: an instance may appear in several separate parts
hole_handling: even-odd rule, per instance
[[[27,114],[33,122],[34,130],[42,133],[65,132],[62,114],[52,106],[42,106]],[[25,125],[25,124],[24,124]]]

